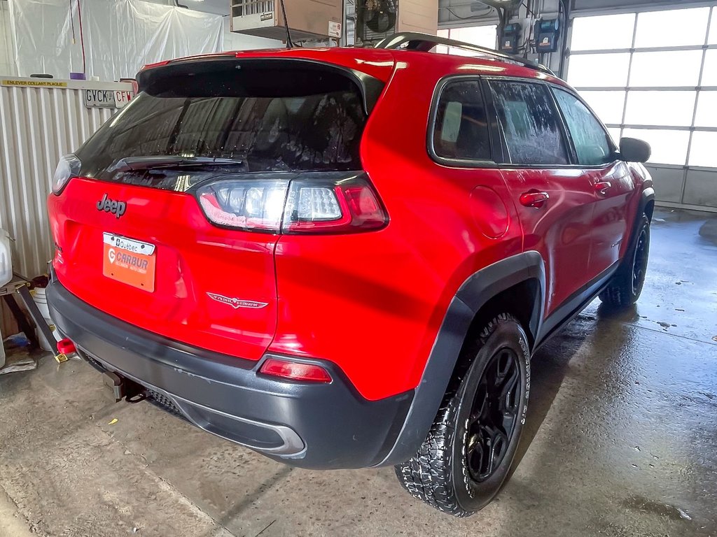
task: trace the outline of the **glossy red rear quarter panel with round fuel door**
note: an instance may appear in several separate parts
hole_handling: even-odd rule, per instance
[[[447,168],[427,153],[433,91],[448,72],[437,59],[404,54],[366,125],[361,160],[388,226],[277,243],[270,351],[329,359],[369,400],[416,387],[460,285],[522,248],[498,170]]]

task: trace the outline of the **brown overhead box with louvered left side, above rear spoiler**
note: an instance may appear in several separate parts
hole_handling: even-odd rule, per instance
[[[284,12],[279,0],[231,0],[231,29],[286,41]],[[343,35],[343,0],[284,0],[291,39],[323,41]]]

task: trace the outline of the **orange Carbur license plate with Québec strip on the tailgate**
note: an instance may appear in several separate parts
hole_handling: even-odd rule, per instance
[[[155,247],[132,238],[103,233],[102,274],[123,284],[154,292]]]

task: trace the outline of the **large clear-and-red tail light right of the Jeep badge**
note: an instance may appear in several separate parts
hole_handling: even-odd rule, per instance
[[[217,226],[272,233],[351,233],[388,218],[365,174],[290,174],[286,179],[226,176],[196,190]]]

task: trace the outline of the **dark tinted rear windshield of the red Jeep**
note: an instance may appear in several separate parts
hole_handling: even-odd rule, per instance
[[[156,174],[151,166],[128,171],[132,165],[118,163],[201,159],[205,164],[192,169],[205,173],[212,168],[209,159],[221,159],[214,168],[234,173],[361,169],[366,110],[359,85],[347,74],[305,66],[277,69],[270,62],[217,63],[207,72],[195,68],[149,79],[77,151],[82,175],[174,190],[177,174],[167,169],[181,165],[165,165],[160,168],[167,173]]]

